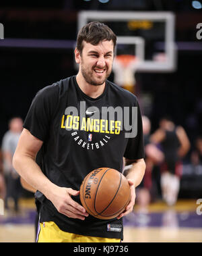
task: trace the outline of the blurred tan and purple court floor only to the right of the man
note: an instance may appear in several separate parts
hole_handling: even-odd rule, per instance
[[[180,200],[174,207],[159,201],[147,212],[135,206],[124,220],[124,242],[202,242],[202,215],[197,215],[196,201]]]

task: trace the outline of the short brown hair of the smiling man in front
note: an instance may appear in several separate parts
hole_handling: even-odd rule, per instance
[[[90,22],[83,26],[77,35],[77,49],[82,52],[83,41],[98,45],[102,41],[113,41],[116,46],[116,34],[106,25],[100,22]]]

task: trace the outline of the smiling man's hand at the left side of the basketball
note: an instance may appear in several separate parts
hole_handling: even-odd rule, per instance
[[[48,199],[55,205],[59,213],[74,219],[85,220],[85,217],[88,217],[86,209],[71,199],[71,196],[77,195],[79,195],[77,190],[56,186]]]

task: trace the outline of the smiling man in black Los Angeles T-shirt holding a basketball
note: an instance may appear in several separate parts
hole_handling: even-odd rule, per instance
[[[137,98],[107,80],[115,45],[116,35],[105,24],[83,26],[75,48],[78,74],[42,88],[26,116],[13,165],[36,190],[38,242],[123,240],[122,217],[133,211],[135,187],[143,178],[145,162]],[[69,107],[76,113],[67,113]],[[125,129],[123,116],[102,113],[117,107],[137,108],[135,137],[125,136],[130,130]],[[133,111],[121,113],[130,121],[134,119]],[[96,219],[81,206],[81,182],[89,172],[102,167],[122,172],[123,157],[132,163],[127,174],[131,201],[118,217]],[[109,230],[109,225],[114,228]]]

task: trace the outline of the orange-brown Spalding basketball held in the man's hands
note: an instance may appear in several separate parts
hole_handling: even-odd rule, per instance
[[[125,210],[130,198],[127,178],[111,168],[93,170],[80,186],[81,204],[90,215],[102,220],[117,217]]]

